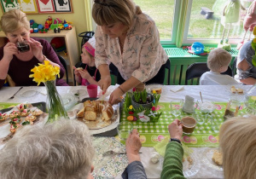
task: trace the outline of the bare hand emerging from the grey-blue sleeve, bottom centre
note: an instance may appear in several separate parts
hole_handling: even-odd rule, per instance
[[[125,147],[129,164],[131,164],[133,161],[141,160],[139,151],[142,147],[142,142],[140,141],[140,135],[137,129],[131,131],[130,136],[128,136],[126,139]]]

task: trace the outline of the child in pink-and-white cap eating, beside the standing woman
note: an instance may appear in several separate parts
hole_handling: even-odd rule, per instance
[[[85,68],[76,68],[73,66],[76,81],[84,86],[89,84],[98,85],[98,81],[101,79],[101,73],[98,71],[95,65],[95,44],[94,37],[90,38],[88,42],[84,43],[82,47],[82,62],[86,64]]]

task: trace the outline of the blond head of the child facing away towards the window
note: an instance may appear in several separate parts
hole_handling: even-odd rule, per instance
[[[232,56],[224,49],[212,49],[207,58],[207,66],[212,72],[226,72]]]

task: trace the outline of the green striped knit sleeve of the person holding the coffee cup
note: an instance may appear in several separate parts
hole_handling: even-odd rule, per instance
[[[176,141],[167,144],[161,179],[185,178],[183,176],[183,147]]]

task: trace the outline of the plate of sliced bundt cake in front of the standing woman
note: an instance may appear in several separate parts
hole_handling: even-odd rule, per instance
[[[82,101],[76,116],[90,130],[108,127],[119,120],[118,105],[112,106],[108,101],[97,101],[96,98],[85,98]]]

